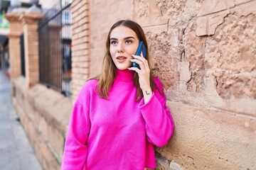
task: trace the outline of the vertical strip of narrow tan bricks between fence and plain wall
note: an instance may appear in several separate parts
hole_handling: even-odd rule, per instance
[[[89,1],[72,3],[72,88],[73,102],[89,75]]]

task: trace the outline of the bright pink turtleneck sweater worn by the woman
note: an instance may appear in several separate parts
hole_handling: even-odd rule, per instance
[[[148,103],[137,102],[134,72],[118,70],[109,99],[85,83],[75,102],[61,169],[131,169],[156,167],[154,145],[166,145],[174,121],[166,99],[154,90]],[[154,79],[163,91],[159,79]],[[95,90],[94,90],[95,89]]]

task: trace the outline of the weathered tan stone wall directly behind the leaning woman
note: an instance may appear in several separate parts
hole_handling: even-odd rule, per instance
[[[176,124],[156,148],[157,169],[256,169],[255,8],[250,0],[90,1],[90,76],[115,21],[132,19],[146,33]]]

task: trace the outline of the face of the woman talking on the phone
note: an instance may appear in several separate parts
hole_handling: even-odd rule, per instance
[[[137,51],[139,39],[136,33],[125,26],[118,26],[110,34],[110,55],[117,69],[132,67],[132,55]]]

